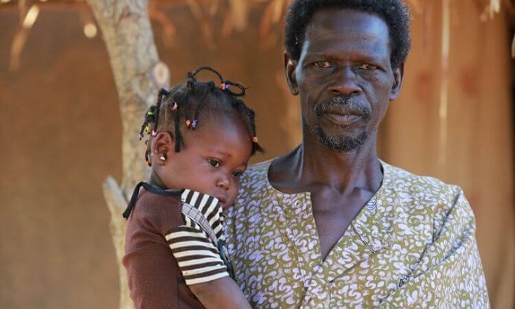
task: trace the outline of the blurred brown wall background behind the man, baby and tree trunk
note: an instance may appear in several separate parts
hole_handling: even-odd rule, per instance
[[[287,4],[148,6],[172,84],[209,65],[250,87],[246,101],[267,150],[254,162],[301,140],[298,98],[282,65]],[[402,95],[380,129],[380,157],[463,187],[492,308],[515,308],[513,2],[409,5],[413,47]],[[86,3],[0,0],[0,106],[0,308],[117,308],[102,183],[122,177],[122,119]]]

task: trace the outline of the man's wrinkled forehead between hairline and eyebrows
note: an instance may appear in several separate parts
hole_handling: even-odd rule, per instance
[[[308,27],[301,54],[363,52],[389,58],[389,28],[378,15],[358,10],[317,11]]]

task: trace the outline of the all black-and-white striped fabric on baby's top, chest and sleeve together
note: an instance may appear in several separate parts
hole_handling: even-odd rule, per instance
[[[185,225],[170,231],[165,238],[186,284],[229,276],[218,250],[219,241],[225,242],[222,206],[218,199],[186,189],[181,200]]]

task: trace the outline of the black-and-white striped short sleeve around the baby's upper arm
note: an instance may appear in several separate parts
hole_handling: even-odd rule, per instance
[[[207,234],[188,216],[165,236],[187,285],[228,277],[220,252]]]

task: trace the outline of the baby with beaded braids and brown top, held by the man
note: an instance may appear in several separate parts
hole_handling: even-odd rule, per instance
[[[196,80],[204,70],[220,87]],[[244,93],[200,67],[185,84],[161,89],[146,113],[139,137],[150,136],[150,179],[124,212],[123,263],[136,308],[251,308],[233,280],[222,216],[251,155],[263,151],[254,112],[238,98]]]

